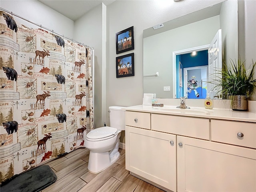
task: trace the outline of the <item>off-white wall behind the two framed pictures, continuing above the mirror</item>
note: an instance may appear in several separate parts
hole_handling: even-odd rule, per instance
[[[156,24],[206,8],[223,0],[127,1],[117,0],[107,6],[107,97],[106,105],[142,104],[143,30]],[[115,34],[134,26],[134,50],[116,54]],[[116,78],[116,57],[134,52],[135,76]],[[107,117],[107,120],[109,118]]]

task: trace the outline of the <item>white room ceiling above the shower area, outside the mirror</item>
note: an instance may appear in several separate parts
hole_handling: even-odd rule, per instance
[[[60,14],[75,21],[86,12],[100,5],[102,2],[108,6],[115,0],[38,0]]]

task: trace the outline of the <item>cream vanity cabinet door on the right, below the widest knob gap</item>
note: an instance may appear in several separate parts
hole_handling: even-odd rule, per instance
[[[256,150],[177,136],[177,180],[178,192],[255,192]]]

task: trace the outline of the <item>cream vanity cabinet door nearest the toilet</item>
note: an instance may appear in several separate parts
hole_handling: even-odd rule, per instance
[[[176,135],[126,126],[125,140],[126,169],[176,192]]]

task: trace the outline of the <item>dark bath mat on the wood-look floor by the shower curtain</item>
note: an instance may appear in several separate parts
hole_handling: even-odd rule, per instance
[[[57,180],[50,166],[41,165],[15,175],[10,182],[1,184],[1,192],[39,192]]]

